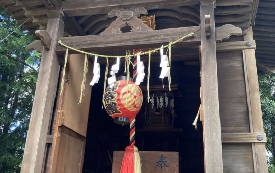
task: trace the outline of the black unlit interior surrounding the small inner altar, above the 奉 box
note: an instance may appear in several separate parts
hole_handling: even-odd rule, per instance
[[[176,48],[172,48],[172,55],[174,51],[176,53],[184,52],[183,49],[177,51]],[[125,53],[125,51],[123,52]],[[159,59],[159,52],[152,54],[152,60],[154,60],[154,56]],[[143,88],[147,85],[148,63],[145,60],[148,57],[141,57],[141,59],[145,62],[146,73],[144,81],[140,85]],[[101,64],[101,77],[98,84],[92,87],[83,172],[112,172],[113,152],[125,151],[125,147],[129,143],[129,125],[115,124],[114,119],[107,114],[105,108],[102,110],[106,65]],[[115,62],[111,61],[109,66],[111,67],[113,64]],[[120,76],[123,72],[124,60],[121,59],[120,70],[116,76]],[[132,74],[132,66],[130,66],[130,72]],[[150,64],[150,87],[162,85],[162,79],[159,78],[160,72],[159,62],[154,63],[153,61]],[[139,151],[179,152],[180,172],[204,172],[203,131],[200,119],[197,123],[198,130],[194,130],[193,125],[200,106],[199,73],[198,57],[195,61],[171,62],[171,85],[178,85],[177,90],[171,91],[174,95],[176,114],[172,130],[166,131],[160,128],[147,131],[143,129],[146,92],[143,92],[143,105],[136,116],[135,140]],[[165,86],[168,85],[167,78],[164,78],[163,83]],[[172,118],[168,124],[172,124]]]

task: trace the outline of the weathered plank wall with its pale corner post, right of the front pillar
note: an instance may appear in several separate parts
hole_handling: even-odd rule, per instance
[[[252,29],[247,33],[237,40],[252,41]],[[217,73],[224,172],[268,172],[255,49],[218,52]],[[224,140],[229,134],[230,140]]]

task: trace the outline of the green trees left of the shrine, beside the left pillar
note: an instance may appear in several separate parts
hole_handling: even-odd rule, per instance
[[[19,25],[0,7],[0,41]],[[0,172],[20,172],[41,55],[22,26],[0,43]]]

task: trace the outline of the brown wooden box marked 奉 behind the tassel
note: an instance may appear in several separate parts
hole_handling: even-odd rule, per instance
[[[112,173],[119,173],[122,158],[125,151],[114,151]],[[139,151],[142,162],[142,173],[161,172],[161,173],[179,173],[179,152],[151,152]],[[164,162],[169,167],[159,167],[159,157],[163,155],[167,162]]]

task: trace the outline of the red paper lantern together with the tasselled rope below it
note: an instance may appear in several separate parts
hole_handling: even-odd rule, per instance
[[[130,142],[125,149],[121,173],[141,172],[140,156],[135,147],[135,117],[141,109],[142,100],[141,89],[128,76],[118,77],[113,87],[109,85],[104,94],[106,111],[114,122],[122,125],[130,123]]]

